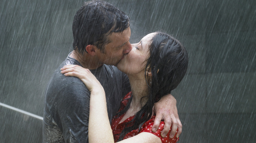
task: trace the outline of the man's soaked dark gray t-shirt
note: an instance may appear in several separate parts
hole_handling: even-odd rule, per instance
[[[87,143],[90,92],[83,82],[60,73],[64,65],[81,64],[68,56],[54,71],[46,89],[44,101],[44,143]],[[106,93],[108,116],[111,121],[123,96],[131,91],[128,77],[115,66],[103,65],[90,70]],[[100,135],[99,135],[100,136]]]

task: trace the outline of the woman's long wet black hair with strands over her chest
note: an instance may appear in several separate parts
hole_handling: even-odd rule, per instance
[[[149,50],[150,57],[147,59],[145,68],[145,79],[150,90],[147,96],[148,101],[139,112],[135,114],[134,119],[130,121],[134,122],[133,126],[125,127],[121,132],[118,141],[122,140],[123,137],[132,130],[139,128],[140,131],[141,126],[151,118],[154,103],[158,102],[162,96],[169,94],[175,89],[187,71],[187,51],[180,41],[172,36],[163,32],[157,32],[151,40]],[[150,70],[152,77],[146,74],[146,71]],[[131,101],[132,97],[126,108],[118,112],[117,115],[125,113]]]

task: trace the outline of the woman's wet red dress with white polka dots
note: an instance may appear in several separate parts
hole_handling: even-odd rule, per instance
[[[124,107],[127,105],[127,103],[129,102],[129,98],[131,97],[131,94],[132,94],[132,92],[129,92],[123,98],[119,111],[123,110]],[[115,142],[117,142],[117,140],[119,139],[120,135],[118,135],[118,134],[120,134],[123,131],[123,129],[125,128],[126,123],[131,121],[134,118],[134,116],[129,117],[125,121],[123,121],[122,123],[118,124],[120,122],[120,120],[123,118],[124,114],[120,115],[119,117],[115,116],[112,119],[111,128],[112,128],[112,131],[113,131]],[[176,137],[178,129],[177,129],[176,134],[174,135],[173,138],[169,138],[169,134],[170,134],[171,129],[169,130],[168,134],[165,137],[161,137],[161,132],[163,130],[164,121],[161,121],[160,126],[159,126],[158,130],[155,133],[152,132],[152,126],[154,124],[154,120],[155,120],[155,116],[153,116],[151,119],[149,119],[147,122],[145,122],[142,125],[140,132],[139,132],[139,129],[133,130],[133,131],[129,132],[128,134],[126,134],[123,139],[138,135],[139,133],[142,133],[142,132],[148,132],[148,133],[152,133],[152,134],[160,137],[162,143],[176,143],[179,140],[179,137],[178,138]],[[128,124],[128,126],[132,126],[132,125],[133,125],[133,123]]]

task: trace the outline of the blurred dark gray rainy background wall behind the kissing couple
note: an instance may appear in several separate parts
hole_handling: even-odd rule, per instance
[[[255,0],[107,0],[131,17],[131,43],[162,30],[189,53],[172,94],[179,143],[256,142]],[[53,71],[72,51],[83,0],[0,1],[0,103],[43,116]],[[42,120],[0,106],[0,142],[42,142]]]

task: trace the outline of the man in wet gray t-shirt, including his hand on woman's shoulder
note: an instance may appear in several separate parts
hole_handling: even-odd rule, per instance
[[[110,120],[119,109],[122,96],[131,90],[128,77],[115,67],[131,51],[129,17],[111,4],[90,1],[76,12],[72,29],[74,50],[55,70],[46,91],[43,142],[88,142],[90,92],[80,79],[60,73],[64,65],[82,66],[96,76],[106,93]],[[155,104],[157,118],[153,128],[157,129],[164,119],[162,136],[168,133],[171,123],[171,134],[179,126],[180,135],[176,100],[171,95],[165,98],[170,98],[167,105],[166,99]]]

